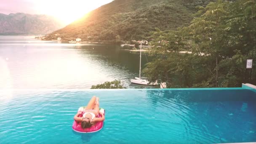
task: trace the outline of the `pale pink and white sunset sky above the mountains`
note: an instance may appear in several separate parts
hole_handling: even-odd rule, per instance
[[[113,0],[0,0],[0,13],[29,13],[54,16],[70,24],[86,13]]]

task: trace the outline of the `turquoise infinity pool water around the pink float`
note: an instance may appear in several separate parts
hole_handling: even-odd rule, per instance
[[[91,134],[72,131],[78,107],[93,95],[106,109],[104,128]],[[256,141],[256,93],[243,88],[0,94],[0,144],[250,141]]]

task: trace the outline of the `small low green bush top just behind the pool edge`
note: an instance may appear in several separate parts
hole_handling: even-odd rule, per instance
[[[91,89],[120,89],[125,88],[120,80],[107,81],[102,84],[92,85]]]

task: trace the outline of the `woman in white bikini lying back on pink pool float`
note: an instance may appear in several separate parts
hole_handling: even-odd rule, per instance
[[[83,117],[78,117],[83,114]],[[101,117],[99,117],[101,115]],[[103,113],[99,112],[99,98],[93,96],[88,102],[87,106],[83,109],[83,112],[79,111],[74,117],[74,120],[78,123],[81,122],[82,128],[90,128],[97,122],[104,121],[105,116]]]

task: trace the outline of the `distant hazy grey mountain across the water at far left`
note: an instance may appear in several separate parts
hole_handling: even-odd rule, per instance
[[[26,13],[0,13],[0,35],[45,35],[64,27],[51,16]]]

